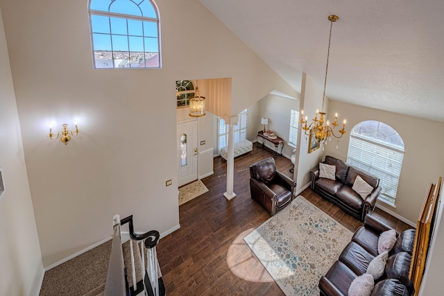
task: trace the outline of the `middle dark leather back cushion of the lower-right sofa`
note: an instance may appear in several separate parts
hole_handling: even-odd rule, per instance
[[[386,279],[399,279],[409,291],[413,291],[413,283],[409,279],[411,254],[399,252],[387,259],[384,277]]]

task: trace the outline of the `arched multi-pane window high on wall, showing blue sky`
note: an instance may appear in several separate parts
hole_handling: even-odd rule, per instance
[[[89,0],[94,68],[160,68],[159,11],[152,0]]]

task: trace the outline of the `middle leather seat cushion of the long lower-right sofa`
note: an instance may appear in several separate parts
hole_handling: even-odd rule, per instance
[[[339,255],[339,261],[355,272],[356,275],[366,273],[368,264],[375,258],[357,243],[350,242]]]

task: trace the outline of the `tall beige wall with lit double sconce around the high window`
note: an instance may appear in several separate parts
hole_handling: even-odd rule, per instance
[[[197,0],[156,2],[163,68],[95,70],[87,1],[0,0],[45,267],[110,236],[114,214],[179,226],[176,80],[232,78],[233,114],[296,93]],[[74,117],[67,146],[45,137]]]

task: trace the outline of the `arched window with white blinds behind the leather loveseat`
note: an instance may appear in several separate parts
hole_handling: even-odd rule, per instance
[[[379,177],[379,200],[395,206],[404,141],[398,132],[379,121],[362,121],[350,134],[347,162]]]

